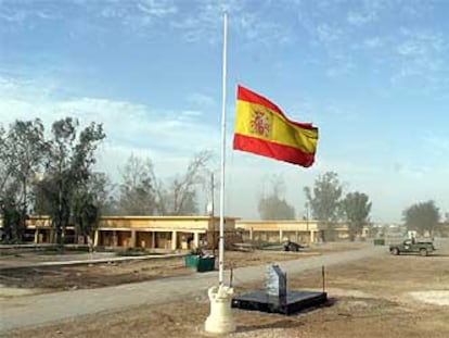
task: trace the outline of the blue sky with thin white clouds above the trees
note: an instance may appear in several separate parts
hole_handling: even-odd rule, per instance
[[[97,170],[117,183],[130,154],[169,178],[202,150],[218,177],[224,10],[226,214],[258,218],[275,176],[303,217],[330,171],[373,222],[431,199],[449,212],[445,0],[0,0],[0,123],[102,123]],[[312,167],[232,150],[238,84],[319,127]]]

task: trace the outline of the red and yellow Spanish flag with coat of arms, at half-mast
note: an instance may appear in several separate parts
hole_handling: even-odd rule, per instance
[[[238,87],[233,149],[308,167],[313,164],[318,128],[288,120],[271,101]]]

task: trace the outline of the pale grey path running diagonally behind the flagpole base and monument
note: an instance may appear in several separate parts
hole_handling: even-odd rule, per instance
[[[285,261],[279,265],[287,275],[292,275],[307,270],[321,268],[322,265],[347,263],[382,253],[386,254],[385,247],[370,247]],[[238,268],[234,271],[234,285],[261,280],[265,270],[266,264]],[[229,280],[229,275],[224,280]],[[0,299],[0,335],[2,331],[14,328],[43,325],[79,315],[175,301],[189,295],[206,295],[207,288],[216,285],[217,280],[218,273],[210,272],[99,289]]]

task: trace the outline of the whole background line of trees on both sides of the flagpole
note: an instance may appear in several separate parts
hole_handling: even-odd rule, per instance
[[[161,179],[151,159],[131,154],[120,168],[120,183],[113,184],[105,173],[95,172],[95,151],[106,138],[102,124],[80,127],[65,117],[53,122],[49,133],[39,118],[15,121],[0,126],[0,216],[2,240],[20,242],[28,215],[48,215],[62,243],[69,224],[78,235],[89,236],[101,215],[194,215],[198,213],[198,188],[210,191],[210,151],[196,153],[185,171]],[[271,179],[268,193],[258,201],[261,220],[294,220],[295,208],[282,197],[284,183]],[[350,238],[370,224],[372,203],[364,192],[344,195],[339,177],[328,172],[305,187],[307,214],[324,222],[332,236],[337,222],[349,225]],[[309,215],[307,215],[308,217]],[[449,213],[441,223],[434,201],[413,204],[402,212],[408,229],[420,234],[449,226]]]

